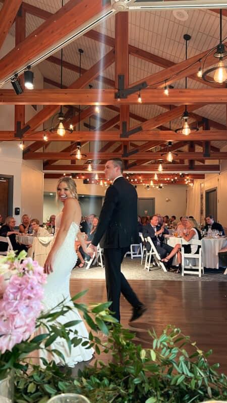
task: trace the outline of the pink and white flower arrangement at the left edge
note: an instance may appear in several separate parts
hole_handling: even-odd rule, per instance
[[[22,251],[0,256],[0,375],[14,366],[14,346],[26,341],[35,330],[42,310],[43,267]]]

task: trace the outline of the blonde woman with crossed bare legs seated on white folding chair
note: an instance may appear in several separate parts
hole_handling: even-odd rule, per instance
[[[198,229],[198,224],[194,218],[189,218],[186,223],[186,228],[189,231],[189,235],[186,235],[182,233],[182,239],[185,241],[190,241],[191,239],[202,239],[201,233]],[[185,253],[199,253],[199,248],[200,246],[198,245],[191,245],[191,244],[185,244],[182,241],[182,246],[184,246]],[[173,248],[172,252],[169,253],[168,256],[162,259],[163,262],[167,263],[169,259],[172,259],[174,255],[178,255],[178,262],[179,262],[179,267],[176,271],[176,273],[181,273],[181,263],[182,263],[182,256],[181,256],[181,244],[177,243],[175,247]]]

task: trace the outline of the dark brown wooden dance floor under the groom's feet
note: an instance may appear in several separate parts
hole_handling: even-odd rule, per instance
[[[154,328],[160,334],[167,324],[173,324],[180,327],[185,335],[190,335],[201,350],[212,349],[209,362],[218,362],[220,372],[227,374],[225,282],[131,280],[130,284],[148,309],[129,326],[132,309],[121,297],[121,323],[135,331],[137,341],[143,347],[149,347],[151,340],[147,329]],[[106,301],[104,280],[71,280],[72,296],[86,289],[88,292],[78,301],[86,304]]]

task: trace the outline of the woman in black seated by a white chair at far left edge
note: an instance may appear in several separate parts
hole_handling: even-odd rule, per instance
[[[20,244],[16,241],[16,235],[19,235],[18,231],[14,230],[16,224],[16,220],[14,217],[7,217],[5,224],[0,228],[0,236],[9,237],[13,246],[13,250],[17,253],[22,250],[28,250],[26,245]],[[8,246],[5,242],[0,242],[0,250],[1,252],[5,252]]]

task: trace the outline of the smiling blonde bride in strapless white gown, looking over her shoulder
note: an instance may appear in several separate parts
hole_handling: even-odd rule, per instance
[[[69,305],[68,301],[71,298],[69,291],[70,274],[77,260],[75,239],[78,238],[85,253],[92,253],[87,249],[79,230],[81,209],[77,200],[77,189],[74,180],[68,176],[61,178],[58,182],[57,196],[64,204],[64,208],[55,219],[54,241],[44,263],[44,273],[48,277],[43,304],[47,310],[55,307],[64,298],[66,298],[66,303]],[[87,340],[87,329],[75,307],[73,311],[69,311],[66,315],[58,318],[58,322],[61,323],[71,320],[81,320],[74,328],[78,331],[78,337]],[[51,349],[59,350],[64,355],[66,364],[60,357],[56,355],[49,356],[46,352],[44,358],[50,361],[54,357],[56,363],[69,367],[74,367],[78,362],[90,360],[94,352],[93,349],[86,350],[80,344],[76,347],[72,346],[70,354],[66,340],[59,338],[51,344]]]

